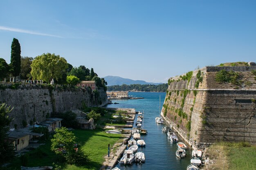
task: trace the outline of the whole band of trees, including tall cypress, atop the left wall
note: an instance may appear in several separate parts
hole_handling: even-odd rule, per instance
[[[97,87],[107,90],[108,83],[104,78],[98,77],[93,68],[83,65],[73,67],[64,57],[54,53],[43,53],[35,58],[22,57],[20,53],[20,43],[13,38],[10,64],[0,58],[0,81],[5,77],[14,77],[14,82],[43,80],[43,83],[50,83],[54,79],[54,84],[69,86],[76,86],[81,81],[95,81]]]

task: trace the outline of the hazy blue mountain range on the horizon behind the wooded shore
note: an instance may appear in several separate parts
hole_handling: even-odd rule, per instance
[[[111,75],[108,75],[103,78],[106,80],[106,82],[108,82],[107,86],[122,85],[122,84],[127,84],[127,85],[130,85],[130,84],[153,84],[153,85],[163,84],[163,83],[149,83],[149,82],[145,82],[143,80],[125,79],[122,77],[111,76]]]

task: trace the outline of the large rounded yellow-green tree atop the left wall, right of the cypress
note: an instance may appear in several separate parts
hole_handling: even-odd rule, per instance
[[[43,53],[33,60],[31,68],[33,79],[42,79],[45,82],[50,82],[52,79],[58,80],[62,78],[67,68],[67,61],[54,53]]]

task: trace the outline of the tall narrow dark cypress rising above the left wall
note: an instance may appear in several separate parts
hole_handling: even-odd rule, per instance
[[[11,43],[11,68],[14,76],[20,75],[20,43],[19,40],[13,38]]]

